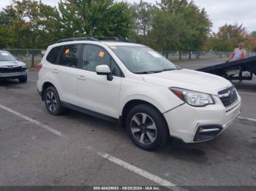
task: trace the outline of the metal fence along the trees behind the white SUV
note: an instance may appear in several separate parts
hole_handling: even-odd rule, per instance
[[[42,60],[45,50],[41,49],[7,49],[15,58],[26,63],[28,67],[35,67]],[[228,58],[232,52],[203,52],[203,51],[162,51],[165,58],[171,61],[211,60]],[[246,52],[246,57],[255,56],[256,52]]]

